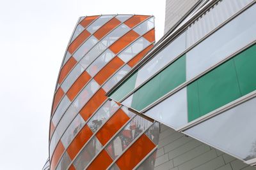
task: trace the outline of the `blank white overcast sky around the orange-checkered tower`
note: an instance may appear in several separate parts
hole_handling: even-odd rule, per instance
[[[0,169],[42,169],[60,64],[78,17],[144,14],[163,36],[165,0],[0,0]]]

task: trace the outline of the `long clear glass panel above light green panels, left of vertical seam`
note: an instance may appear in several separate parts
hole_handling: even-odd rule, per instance
[[[184,52],[184,50],[186,50],[186,35],[183,33],[140,68],[135,88],[168,64],[168,62],[172,61],[180,53]]]

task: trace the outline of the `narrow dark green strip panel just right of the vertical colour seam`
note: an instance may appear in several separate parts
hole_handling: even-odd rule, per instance
[[[198,81],[194,81],[187,87],[188,92],[188,122],[200,117],[198,96]]]

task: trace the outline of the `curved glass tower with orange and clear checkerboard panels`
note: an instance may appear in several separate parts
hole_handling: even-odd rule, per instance
[[[52,102],[51,169],[132,169],[154,162],[159,124],[105,96],[154,42],[152,16],[79,19]]]

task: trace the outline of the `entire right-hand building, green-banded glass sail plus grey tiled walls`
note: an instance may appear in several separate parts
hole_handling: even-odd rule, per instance
[[[162,124],[155,169],[256,169],[255,3],[198,1],[109,90]]]

